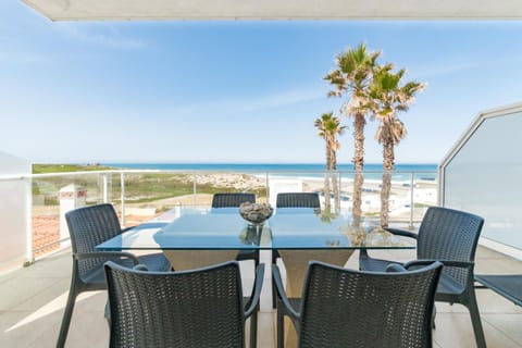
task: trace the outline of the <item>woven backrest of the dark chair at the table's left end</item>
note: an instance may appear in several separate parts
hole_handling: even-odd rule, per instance
[[[95,247],[122,233],[120,220],[112,204],[83,207],[65,213],[73,253],[92,252]],[[83,277],[94,270],[101,270],[107,258],[79,260],[78,272]]]

